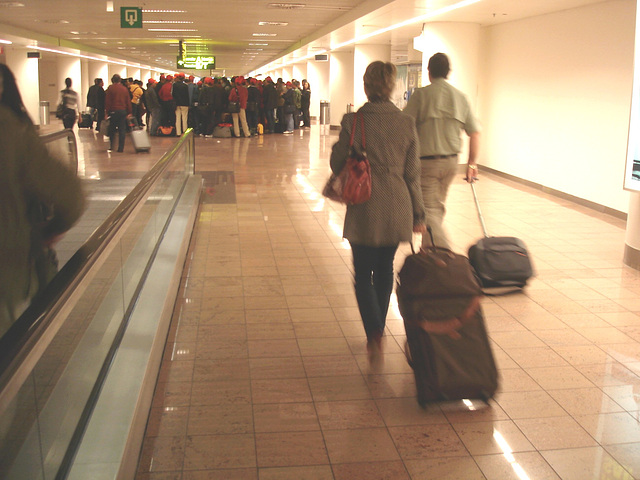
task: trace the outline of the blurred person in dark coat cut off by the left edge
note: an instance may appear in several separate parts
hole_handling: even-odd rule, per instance
[[[24,108],[11,70],[0,64],[0,336],[43,287],[38,259],[80,218],[76,172],[51,157]],[[46,218],[35,215],[50,212]],[[45,222],[46,220],[46,222]]]

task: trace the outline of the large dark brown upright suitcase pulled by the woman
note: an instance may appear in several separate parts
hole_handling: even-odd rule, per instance
[[[498,371],[480,306],[481,287],[467,258],[438,247],[409,255],[396,293],[418,403],[491,398]]]

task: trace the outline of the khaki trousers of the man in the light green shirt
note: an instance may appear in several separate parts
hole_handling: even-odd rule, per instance
[[[436,247],[451,248],[449,237],[442,222],[446,213],[445,202],[451,182],[458,172],[458,156],[432,160],[420,160],[422,174],[422,200],[426,214],[426,223],[431,227]],[[431,238],[428,233],[422,235],[422,246],[430,246]]]

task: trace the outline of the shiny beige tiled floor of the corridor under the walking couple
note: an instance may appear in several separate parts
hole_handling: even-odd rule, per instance
[[[491,233],[524,239],[537,276],[483,300],[491,405],[422,409],[395,306],[384,361],[368,362],[344,209],[318,193],[336,138],[197,139],[203,198],[137,478],[640,478],[640,272],[621,260],[624,222],[483,175]],[[465,252],[481,232],[461,179],[448,205]]]

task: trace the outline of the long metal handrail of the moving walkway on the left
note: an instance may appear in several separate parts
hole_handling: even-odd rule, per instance
[[[58,135],[57,138],[60,138],[65,136],[64,133],[65,131],[51,135]],[[141,207],[183,144],[189,142],[189,148],[193,148],[193,139],[193,131],[188,129],[173,149],[158,160],[0,338],[0,411],[11,401],[12,394],[22,385],[50,343],[55,332],[52,334],[48,331],[54,326],[53,322],[58,314],[69,308],[67,303],[72,297],[81,294],[80,285],[89,273],[97,270],[95,267],[100,266],[101,259],[110,251],[109,245],[117,238],[122,226]]]

